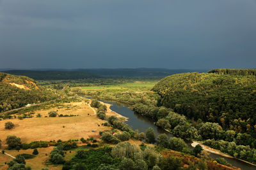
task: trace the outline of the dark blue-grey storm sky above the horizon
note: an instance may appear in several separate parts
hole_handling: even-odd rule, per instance
[[[256,67],[255,0],[0,0],[0,68]]]

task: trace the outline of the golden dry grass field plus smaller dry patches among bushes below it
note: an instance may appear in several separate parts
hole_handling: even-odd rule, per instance
[[[106,104],[108,110],[106,111],[107,116],[115,115],[116,117],[122,117],[111,111],[109,109],[110,104]],[[76,117],[48,117],[49,111],[57,111],[58,115],[78,115]],[[93,111],[94,110],[94,111]],[[97,108],[91,108],[86,102],[76,102],[76,103],[65,103],[63,106],[56,106],[55,108],[47,110],[37,110],[33,115],[33,118],[24,118],[19,120],[6,119],[0,121],[0,139],[2,140],[2,150],[6,145],[6,137],[9,135],[15,135],[19,137],[22,143],[29,143],[31,141],[57,141],[61,139],[62,141],[67,141],[68,139],[80,139],[89,138],[89,136],[98,135],[99,131],[109,130],[111,127],[106,127],[101,125],[106,122],[96,117]],[[40,113],[42,117],[37,118],[36,115]],[[18,117],[19,115],[16,115]],[[47,116],[47,117],[45,117]],[[15,127],[13,129],[4,129],[4,124],[6,122],[13,122]],[[95,132],[93,132],[95,131]],[[83,145],[80,141],[78,145]],[[26,165],[31,166],[32,169],[42,169],[46,167],[46,162],[49,159],[49,153],[51,152],[53,146],[48,148],[38,148],[39,154],[36,155],[34,159],[27,159]],[[33,150],[6,150],[6,153],[16,156],[21,153],[32,154]],[[46,155],[47,154],[47,155]],[[75,151],[65,155],[65,159],[74,156]],[[8,166],[4,162],[10,162],[12,157],[0,153],[0,169],[8,169]],[[49,169],[61,169],[61,166],[48,165]]]

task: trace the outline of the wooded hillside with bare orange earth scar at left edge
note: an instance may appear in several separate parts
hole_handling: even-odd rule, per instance
[[[0,73],[0,112],[56,98],[54,92],[40,87],[26,76]]]

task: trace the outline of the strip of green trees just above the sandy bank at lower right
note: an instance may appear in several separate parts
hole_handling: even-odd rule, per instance
[[[218,149],[221,152],[228,153],[236,158],[247,160],[248,162],[256,163],[256,149],[250,146],[237,145],[235,142],[223,140],[207,139],[204,145]]]

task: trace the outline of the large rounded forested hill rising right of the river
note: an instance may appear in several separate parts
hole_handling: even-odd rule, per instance
[[[189,118],[218,122],[225,129],[256,134],[256,78],[213,73],[182,73],[153,88],[159,106]]]

